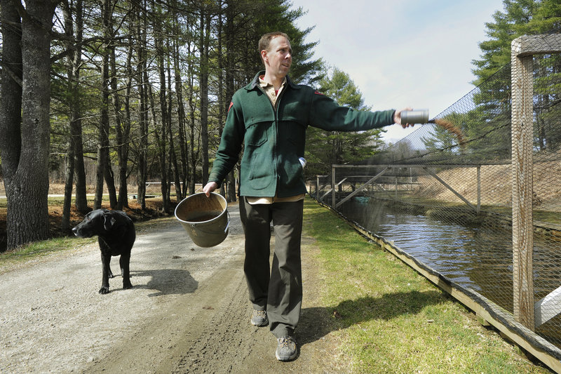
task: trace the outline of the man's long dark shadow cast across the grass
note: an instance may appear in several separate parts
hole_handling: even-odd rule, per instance
[[[442,302],[438,291],[386,293],[380,298],[345,300],[335,307],[303,308],[295,338],[300,345],[320,340],[334,330],[374,319],[389,320],[416,314],[428,305]]]

